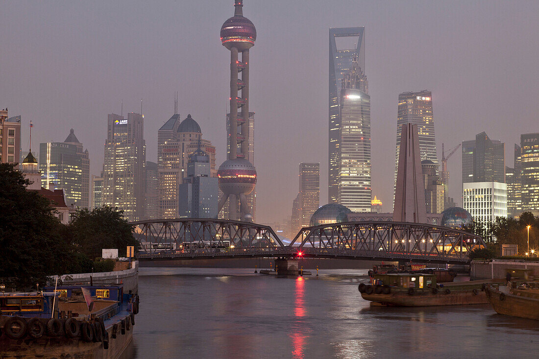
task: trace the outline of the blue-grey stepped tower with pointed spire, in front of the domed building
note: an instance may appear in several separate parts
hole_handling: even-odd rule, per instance
[[[210,172],[210,156],[199,146],[179,185],[178,218],[217,218],[218,180]]]

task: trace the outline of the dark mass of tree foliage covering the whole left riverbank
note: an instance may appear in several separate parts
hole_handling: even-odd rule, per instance
[[[7,288],[43,285],[50,275],[88,273],[101,248],[139,247],[122,211],[79,210],[70,225],[54,217],[49,199],[26,190],[15,164],[0,163],[0,283]],[[100,265],[108,270],[110,263]],[[96,268],[99,270],[99,268]]]

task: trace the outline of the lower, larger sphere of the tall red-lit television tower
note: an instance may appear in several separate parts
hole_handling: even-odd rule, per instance
[[[245,158],[235,158],[219,166],[217,177],[225,195],[248,195],[257,183],[257,170]]]

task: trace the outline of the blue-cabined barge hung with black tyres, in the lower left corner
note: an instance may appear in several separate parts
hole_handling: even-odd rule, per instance
[[[132,341],[139,296],[122,284],[45,289],[0,294],[1,358],[112,359]]]

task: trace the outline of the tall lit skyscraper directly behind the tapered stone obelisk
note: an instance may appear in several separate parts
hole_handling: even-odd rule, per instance
[[[399,157],[400,133],[405,123],[417,125],[419,135],[419,154],[421,161],[430,160],[438,165],[436,138],[434,136],[434,114],[432,112],[432,93],[403,92],[399,94],[397,109],[397,144],[395,151],[395,183],[397,183],[397,164]]]

